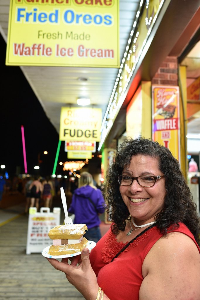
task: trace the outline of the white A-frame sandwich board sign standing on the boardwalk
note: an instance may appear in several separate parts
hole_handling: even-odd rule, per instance
[[[60,207],[54,207],[50,212],[49,207],[41,207],[37,212],[36,207],[29,208],[28,233],[26,254],[41,253],[42,250],[52,245],[49,230],[60,225]]]

